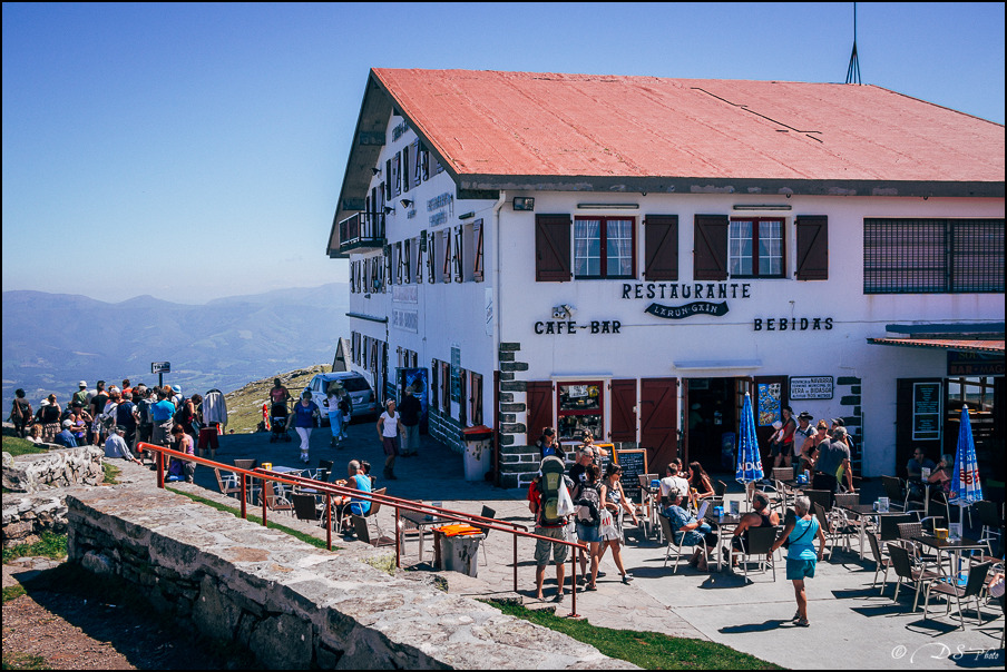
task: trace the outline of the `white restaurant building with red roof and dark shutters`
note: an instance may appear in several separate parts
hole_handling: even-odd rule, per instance
[[[864,476],[954,452],[967,401],[1003,482],[1004,156],[873,86],[375,69],[327,250],[352,367],[427,368],[431,434],[492,429],[508,487],[545,426],[721,471],[745,392],[762,438],[842,417]]]

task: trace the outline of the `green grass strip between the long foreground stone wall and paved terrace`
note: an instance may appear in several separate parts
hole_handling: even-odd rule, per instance
[[[609,658],[627,661],[645,670],[783,670],[779,665],[741,653],[730,646],[703,640],[668,636],[656,632],[598,627],[586,620],[564,619],[502,602],[487,604],[505,614],[561,632],[590,644]]]

